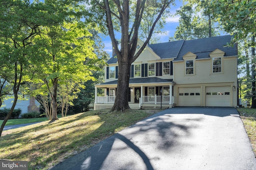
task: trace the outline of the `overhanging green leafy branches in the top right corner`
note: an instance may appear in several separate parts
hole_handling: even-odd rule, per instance
[[[256,34],[256,0],[214,0],[212,4],[224,30],[234,34],[233,43]]]

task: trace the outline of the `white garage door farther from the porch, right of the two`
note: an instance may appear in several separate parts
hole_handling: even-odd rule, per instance
[[[206,87],[206,106],[231,106],[230,86]]]

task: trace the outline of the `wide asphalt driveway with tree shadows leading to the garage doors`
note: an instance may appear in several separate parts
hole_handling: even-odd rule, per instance
[[[255,170],[233,107],[174,107],[124,129],[51,170]]]

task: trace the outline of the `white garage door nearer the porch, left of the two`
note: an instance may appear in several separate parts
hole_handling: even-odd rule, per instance
[[[178,89],[178,106],[201,106],[200,87],[182,87]]]

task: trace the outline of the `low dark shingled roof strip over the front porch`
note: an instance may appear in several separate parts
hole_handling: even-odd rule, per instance
[[[129,84],[152,84],[152,83],[159,83],[159,84],[166,84],[166,83],[172,83],[173,79],[162,79],[158,77],[145,77],[145,78],[130,78]],[[111,81],[111,82],[105,82],[101,84],[97,84],[97,86],[104,86],[104,85],[116,85],[117,80]]]

